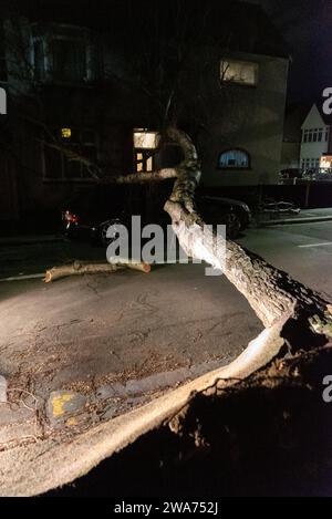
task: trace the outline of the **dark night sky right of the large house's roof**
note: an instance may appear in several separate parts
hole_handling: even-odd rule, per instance
[[[332,0],[251,0],[282,30],[292,53],[291,101],[313,100],[332,86]]]

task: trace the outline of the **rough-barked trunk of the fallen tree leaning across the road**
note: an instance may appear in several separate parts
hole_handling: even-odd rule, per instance
[[[218,253],[222,251],[220,242],[224,238],[212,230],[205,230],[201,242],[205,222],[195,208],[195,190],[200,178],[196,148],[190,138],[177,128],[169,128],[168,135],[181,146],[185,159],[176,168],[177,179],[165,210],[185,252],[222,269],[266,328],[290,315],[284,326],[284,339],[289,345],[309,347],[315,342],[326,342],[331,336],[331,307],[320,294],[229,240],[226,241],[224,261]]]

